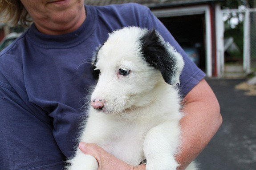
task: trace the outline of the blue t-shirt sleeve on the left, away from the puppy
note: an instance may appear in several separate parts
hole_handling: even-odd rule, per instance
[[[64,167],[49,123],[42,121],[13,90],[0,81],[0,169],[57,170]]]

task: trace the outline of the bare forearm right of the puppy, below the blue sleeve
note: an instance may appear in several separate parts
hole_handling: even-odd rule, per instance
[[[219,103],[205,80],[195,86],[184,98],[180,121],[182,143],[176,160],[184,170],[208,144],[222,123]]]

